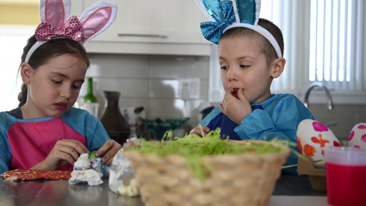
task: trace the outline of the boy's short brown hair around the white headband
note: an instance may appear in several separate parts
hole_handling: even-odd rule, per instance
[[[271,33],[273,37],[275,37],[277,43],[280,46],[281,54],[283,56],[284,43],[281,29],[273,22],[263,18],[259,18],[258,25],[268,30],[268,32]],[[258,38],[258,40],[260,40],[258,42],[261,43],[261,45],[258,46],[262,48],[262,53],[266,56],[267,65],[269,65],[273,59],[278,58],[276,50],[275,48],[273,48],[272,44],[264,36],[252,29],[239,26],[233,27],[225,31],[225,33],[222,34],[221,39],[240,38],[245,36]]]

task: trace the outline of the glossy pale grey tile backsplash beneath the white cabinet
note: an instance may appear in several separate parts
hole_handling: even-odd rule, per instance
[[[208,100],[208,57],[91,54],[90,62],[86,77],[93,77],[99,115],[105,106],[103,91],[119,91],[119,106],[145,106],[147,119],[189,115],[190,123],[198,124],[198,107]],[[187,100],[187,107],[180,99],[180,78],[199,78],[200,82],[199,98]],[[84,84],[80,97],[86,94],[86,87]]]

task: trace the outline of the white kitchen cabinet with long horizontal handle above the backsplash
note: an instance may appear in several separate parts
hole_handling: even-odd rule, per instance
[[[73,1],[71,15],[81,16],[97,1]],[[211,43],[199,26],[208,19],[194,0],[114,1],[115,21],[85,44],[88,52],[209,55]]]

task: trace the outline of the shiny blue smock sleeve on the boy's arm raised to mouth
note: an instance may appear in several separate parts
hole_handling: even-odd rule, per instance
[[[241,139],[254,137],[254,139],[269,141],[277,137],[280,140],[296,143],[296,130],[299,123],[303,119],[314,119],[310,111],[295,96],[281,99],[270,112],[272,115],[266,109],[254,110],[242,120],[234,131]],[[297,146],[291,146],[291,148],[299,151]],[[296,165],[297,163],[298,156],[291,152],[285,165]],[[286,168],[284,171],[297,174],[296,169],[297,167],[292,167]]]

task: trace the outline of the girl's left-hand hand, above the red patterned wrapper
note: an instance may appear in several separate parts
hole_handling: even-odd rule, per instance
[[[68,163],[74,165],[80,154],[90,153],[89,150],[77,140],[59,140],[49,152],[44,161],[39,162],[30,169],[56,170]]]

